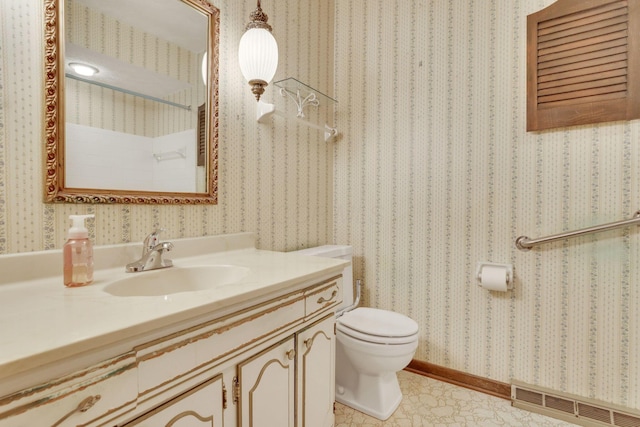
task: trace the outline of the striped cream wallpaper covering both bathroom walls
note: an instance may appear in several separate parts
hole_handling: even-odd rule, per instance
[[[42,7],[0,3],[0,253],[59,248],[71,213],[97,244],[256,231],[266,249],[351,243],[365,303],[416,319],[419,360],[640,408],[636,230],[538,237],[640,208],[637,121],[525,132],[526,15],[551,0],[271,0],[276,79],[334,95],[335,146],[293,120],[255,123],[237,43],[255,2],[221,15],[220,204],[42,201]],[[291,106],[270,86],[267,100]],[[335,147],[335,149],[334,149]],[[516,288],[475,285],[513,263]]]

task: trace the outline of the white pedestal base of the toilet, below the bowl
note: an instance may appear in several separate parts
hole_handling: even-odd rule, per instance
[[[395,372],[361,374],[353,389],[336,384],[336,401],[384,421],[398,409],[402,392]]]

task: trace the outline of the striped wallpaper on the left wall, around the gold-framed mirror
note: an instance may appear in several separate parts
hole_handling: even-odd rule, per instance
[[[0,254],[60,248],[68,216],[93,213],[98,245],[142,242],[156,227],[167,239],[255,231],[262,248],[326,243],[332,233],[333,146],[323,135],[274,117],[255,119],[255,98],[237,48],[255,0],[213,0],[221,10],[219,204],[216,206],[52,205],[43,200],[43,2],[0,2]],[[296,77],[333,89],[333,1],[263,2],[280,47],[275,80]],[[312,20],[307,17],[312,16]],[[264,95],[295,116],[273,85]],[[331,123],[326,106],[310,114]]]

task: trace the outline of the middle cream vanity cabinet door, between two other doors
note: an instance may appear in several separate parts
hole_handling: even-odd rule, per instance
[[[238,425],[294,427],[294,343],[290,337],[238,365]]]

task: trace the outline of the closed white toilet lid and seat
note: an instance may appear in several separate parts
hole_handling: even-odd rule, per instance
[[[338,318],[338,329],[348,335],[356,333],[384,338],[411,337],[418,333],[418,324],[409,317],[393,311],[360,307]],[[395,341],[395,340],[394,340]],[[399,340],[404,341],[406,340]]]

